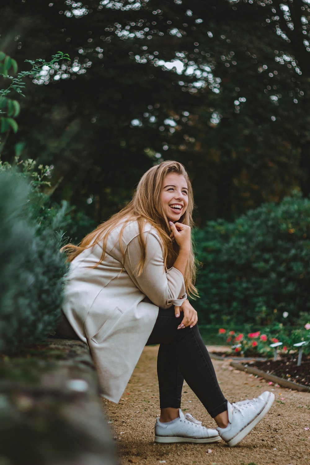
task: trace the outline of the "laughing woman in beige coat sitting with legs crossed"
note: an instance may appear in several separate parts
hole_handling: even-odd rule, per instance
[[[197,295],[192,209],[184,166],[165,161],[142,176],[123,210],[79,246],[65,246],[71,267],[59,332],[66,336],[69,324],[89,346],[102,395],[114,402],[119,402],[144,346],[160,344],[161,413],[155,441],[211,443],[223,438],[233,446],[264,417],[274,395],[266,392],[236,406],[220,390],[198,331],[197,312],[186,294]],[[218,431],[182,413],[184,379]]]

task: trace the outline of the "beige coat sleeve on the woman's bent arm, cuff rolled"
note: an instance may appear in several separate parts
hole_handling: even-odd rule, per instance
[[[181,305],[187,298],[184,278],[173,266],[165,272],[163,252],[160,239],[152,232],[146,232],[146,259],[142,273],[138,276],[137,268],[141,257],[138,236],[127,245],[124,267],[135,285],[160,308]]]

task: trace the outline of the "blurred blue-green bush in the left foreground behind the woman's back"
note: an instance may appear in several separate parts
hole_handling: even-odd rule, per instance
[[[0,350],[16,352],[44,339],[59,320],[64,209],[38,223],[40,194],[13,169],[0,171],[0,197]]]

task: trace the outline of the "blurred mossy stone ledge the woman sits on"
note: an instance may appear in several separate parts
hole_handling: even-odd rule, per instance
[[[0,359],[0,463],[115,465],[88,347],[47,339]]]

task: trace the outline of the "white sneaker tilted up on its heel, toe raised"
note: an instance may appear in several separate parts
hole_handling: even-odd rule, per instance
[[[250,401],[228,402],[229,424],[226,428],[217,428],[218,434],[230,447],[238,444],[266,415],[274,399],[274,394],[266,391]]]

